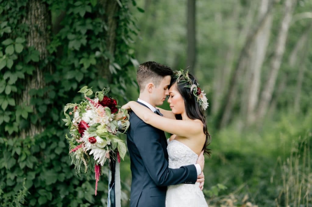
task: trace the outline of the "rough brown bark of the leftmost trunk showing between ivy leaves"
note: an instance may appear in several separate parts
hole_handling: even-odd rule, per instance
[[[47,55],[47,45],[50,42],[50,30],[51,28],[51,13],[48,9],[48,5],[40,0],[30,0],[27,3],[27,15],[22,20],[22,23],[28,25],[29,33],[27,36],[27,47],[34,47],[40,53],[40,61],[44,60]],[[42,89],[46,84],[44,82],[43,74],[46,71],[52,72],[52,66],[48,63],[45,68],[39,68],[39,63],[34,63],[36,68],[32,76],[26,75],[23,84],[25,90],[22,91],[20,97],[16,98],[16,103],[22,103],[30,106],[33,109],[33,113],[37,114],[34,105],[30,104],[31,96],[29,91],[31,89]],[[28,129],[23,129],[19,136],[25,138],[27,136],[34,136],[44,131],[45,127],[41,126],[40,118],[36,124],[30,122]]]

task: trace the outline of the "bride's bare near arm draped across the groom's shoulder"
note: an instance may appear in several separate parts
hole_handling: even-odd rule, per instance
[[[193,120],[175,120],[159,116],[153,113],[149,108],[130,101],[124,106],[124,109],[130,109],[145,123],[152,125],[162,131],[184,137],[192,137],[202,133],[202,123]]]

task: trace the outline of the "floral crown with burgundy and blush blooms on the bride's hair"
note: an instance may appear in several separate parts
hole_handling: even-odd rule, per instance
[[[206,110],[208,108],[209,103],[207,102],[206,94],[203,93],[204,91],[200,89],[197,81],[192,81],[190,79],[190,77],[188,76],[188,71],[174,71],[173,77],[177,79],[176,82],[178,83],[187,83],[187,85],[185,85],[184,87],[190,88],[191,94],[196,97],[196,101],[203,110]]]

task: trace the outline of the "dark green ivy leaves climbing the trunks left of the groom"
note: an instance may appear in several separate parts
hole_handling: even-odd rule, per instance
[[[107,169],[95,197],[94,174],[77,177],[71,165],[62,109],[66,103],[79,102],[82,96],[77,90],[83,85],[95,91],[110,87],[110,96],[127,100],[125,89],[134,82],[129,71],[137,63],[131,49],[135,25],[129,2],[134,0],[119,2],[116,50],[111,54],[105,8],[98,1],[43,1],[53,21],[47,25],[48,54],[42,56],[27,42],[29,25],[23,19],[29,2],[0,1],[1,206],[106,205]],[[54,33],[54,28],[59,30]],[[108,61],[109,79],[99,76]],[[43,71],[45,86],[29,90],[29,103],[21,102],[25,84],[36,79],[37,71]],[[31,126],[44,131],[35,137],[19,137]],[[118,143],[116,147],[124,149]]]

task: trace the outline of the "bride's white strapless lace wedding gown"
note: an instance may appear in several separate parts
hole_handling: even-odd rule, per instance
[[[168,143],[169,168],[180,168],[183,165],[195,164],[198,155],[188,146],[177,140]],[[166,207],[207,207],[199,183],[168,186]]]

